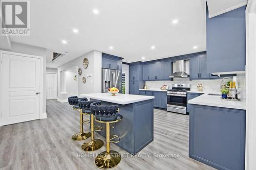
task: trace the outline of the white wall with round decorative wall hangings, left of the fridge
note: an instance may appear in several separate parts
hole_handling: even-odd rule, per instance
[[[87,69],[83,68],[83,59],[87,58],[89,60],[89,65]],[[101,52],[91,51],[84,54],[66,64],[58,67],[58,89],[60,89],[60,71],[64,71],[70,67],[78,66],[82,69],[82,75],[78,76],[78,95],[85,93],[99,93],[101,92]],[[87,74],[92,74],[92,77],[87,77]],[[82,77],[86,78],[86,83],[82,83]],[[58,98],[61,100],[66,100],[67,95],[60,95],[58,91]]]

